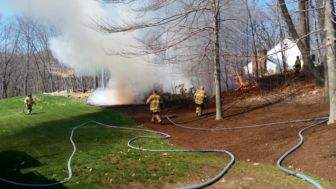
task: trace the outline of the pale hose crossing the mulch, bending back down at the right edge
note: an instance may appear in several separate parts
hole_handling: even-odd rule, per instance
[[[303,143],[303,137],[301,135],[301,133],[311,127],[314,127],[316,125],[320,125],[324,122],[327,122],[329,120],[329,117],[321,117],[321,118],[313,118],[313,119],[303,119],[303,120],[293,120],[293,121],[284,121],[284,122],[277,122],[277,123],[269,123],[269,124],[263,124],[263,125],[253,125],[253,126],[245,126],[245,127],[233,127],[233,128],[221,128],[221,129],[205,129],[205,128],[193,128],[193,127],[186,127],[186,126],[182,126],[182,125],[179,125],[175,122],[173,122],[172,120],[170,120],[168,117],[167,119],[173,124],[173,125],[176,125],[178,127],[182,127],[184,129],[193,129],[193,130],[203,130],[203,131],[222,131],[222,130],[234,130],[234,129],[248,129],[248,128],[256,128],[256,127],[265,127],[265,126],[272,126],[272,125],[279,125],[279,124],[284,124],[284,123],[297,123],[297,122],[306,122],[306,121],[316,121],[316,120],[322,120],[318,123],[315,123],[313,125],[310,125],[304,129],[302,129],[300,132],[299,132],[299,136],[301,138],[299,144],[297,144],[294,148],[290,149],[288,152],[286,152],[277,162],[277,167],[283,171],[283,172],[286,172],[286,173],[289,173],[291,175],[294,175],[296,177],[299,177],[301,179],[304,179],[308,182],[310,182],[312,185],[314,185],[316,188],[318,189],[323,189],[322,186],[320,186],[317,182],[315,182],[314,180],[304,176],[304,175],[301,175],[299,173],[295,173],[293,171],[290,171],[290,170],[287,170],[283,167],[281,167],[281,162],[285,159],[286,156],[288,156],[290,153],[292,153],[294,150],[296,150],[297,148],[299,148],[302,143]],[[192,120],[191,120],[192,121]],[[190,122],[190,121],[187,121],[187,122]],[[186,123],[186,122],[185,122]]]

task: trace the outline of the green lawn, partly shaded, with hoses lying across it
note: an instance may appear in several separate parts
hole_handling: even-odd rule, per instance
[[[142,128],[125,113],[85,105],[86,99],[50,95],[33,96],[33,115],[23,113],[25,97],[0,100],[0,178],[20,183],[49,184],[68,177],[69,140],[77,125],[94,120],[103,124]],[[36,107],[37,107],[36,106]],[[14,114],[14,115],[12,115]],[[161,188],[200,184],[216,176],[230,161],[203,153],[143,152],[127,146],[137,136],[157,136],[89,123],[76,129],[77,146],[72,179],[52,188]],[[182,149],[163,139],[139,139],[144,149]],[[247,180],[244,178],[248,178]],[[317,179],[326,188],[335,185]],[[185,185],[183,185],[185,183]],[[230,183],[234,183],[232,186]],[[313,188],[309,183],[279,171],[274,165],[236,161],[223,180],[210,188]],[[20,188],[0,181],[0,188]],[[22,187],[23,188],[23,187]]]

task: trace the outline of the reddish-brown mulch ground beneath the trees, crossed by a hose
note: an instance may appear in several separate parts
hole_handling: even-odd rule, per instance
[[[300,94],[301,95],[301,94]],[[224,113],[224,119],[217,121],[214,116],[200,121],[182,124],[196,128],[228,128],[266,124],[280,121],[308,119],[328,116],[329,106],[321,104],[321,95],[309,98],[286,99],[277,103],[269,100],[240,101]],[[224,104],[227,107],[231,104]],[[300,141],[298,132],[315,122],[290,123],[268,127],[229,130],[197,131],[173,126],[164,119],[163,126],[149,123],[151,114],[146,106],[106,107],[130,114],[139,124],[172,136],[168,140],[187,149],[224,149],[237,159],[252,162],[276,164],[277,160]],[[213,113],[214,105],[205,108],[204,114]],[[174,122],[197,118],[195,111],[165,109],[162,115],[177,115]],[[336,124],[322,124],[303,133],[304,144],[282,163],[284,167],[293,166],[301,171],[319,176],[336,183]],[[223,155],[212,153],[213,155]]]

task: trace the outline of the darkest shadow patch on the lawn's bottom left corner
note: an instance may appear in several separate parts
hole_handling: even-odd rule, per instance
[[[22,173],[21,171],[23,169],[40,166],[42,166],[42,164],[39,161],[32,158],[25,152],[8,150],[0,153],[0,178],[24,184],[51,184],[58,182],[56,180],[47,179],[38,172]],[[0,181],[0,188],[18,189],[33,187],[17,186]],[[67,187],[57,185],[53,188],[65,189]]]

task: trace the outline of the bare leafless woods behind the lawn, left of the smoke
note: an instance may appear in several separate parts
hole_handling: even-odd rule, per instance
[[[0,23],[1,99],[56,91],[94,90],[108,82],[108,70],[80,76],[60,63],[50,51],[53,26],[40,20],[16,16]]]

